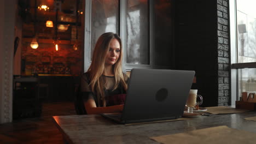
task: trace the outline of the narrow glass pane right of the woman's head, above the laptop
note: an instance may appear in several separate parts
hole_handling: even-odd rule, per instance
[[[149,64],[148,1],[126,2],[126,63]]]

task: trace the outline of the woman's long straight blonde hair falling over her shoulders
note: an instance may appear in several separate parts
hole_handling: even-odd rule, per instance
[[[127,84],[124,79],[123,71],[122,71],[122,58],[123,58],[123,46],[121,43],[121,39],[118,34],[114,34],[112,32],[103,33],[100,38],[98,38],[97,43],[94,48],[94,53],[92,55],[92,62],[88,69],[90,73],[90,86],[92,92],[97,94],[98,103],[100,105],[100,101],[104,101],[104,80],[101,75],[104,72],[104,65],[107,52],[109,51],[109,44],[112,39],[117,39],[120,44],[120,56],[117,62],[113,65],[114,77],[115,77],[115,85],[114,89],[118,88],[118,86],[122,86],[125,91],[127,91]],[[113,89],[113,90],[114,90]]]

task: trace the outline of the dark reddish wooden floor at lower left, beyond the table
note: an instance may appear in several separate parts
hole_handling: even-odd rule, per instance
[[[0,143],[64,143],[52,116],[75,115],[73,102],[43,103],[42,115],[0,124]]]

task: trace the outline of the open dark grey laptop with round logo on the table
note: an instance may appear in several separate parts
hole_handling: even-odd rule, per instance
[[[195,71],[132,69],[123,113],[103,117],[129,124],[182,117]]]

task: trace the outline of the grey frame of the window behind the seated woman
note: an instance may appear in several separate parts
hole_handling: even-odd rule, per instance
[[[91,46],[91,0],[85,0],[85,38],[84,38],[84,71],[90,67],[90,46]],[[155,65],[155,41],[154,41],[154,1],[148,0],[148,21],[149,21],[149,64],[128,64],[126,63],[126,0],[119,0],[119,35],[123,41],[123,71],[131,71],[133,68],[142,69],[171,69],[171,66]]]

